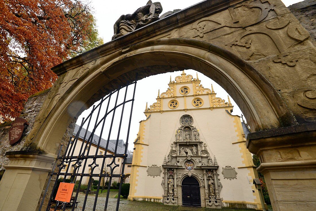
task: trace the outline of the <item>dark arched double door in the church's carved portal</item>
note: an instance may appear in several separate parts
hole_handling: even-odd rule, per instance
[[[185,177],[182,181],[182,205],[201,206],[200,185],[194,177]]]

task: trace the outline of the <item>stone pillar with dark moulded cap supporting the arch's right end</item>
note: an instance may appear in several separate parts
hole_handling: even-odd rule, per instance
[[[249,133],[246,142],[260,159],[273,211],[316,210],[316,124]]]

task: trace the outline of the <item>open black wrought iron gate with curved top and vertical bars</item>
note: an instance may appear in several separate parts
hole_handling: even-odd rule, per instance
[[[105,180],[109,182],[106,190],[106,200],[104,202],[104,210],[107,210],[112,178],[119,178],[119,193],[116,201],[116,210],[119,210],[121,187],[123,178],[125,177],[124,166],[128,156],[127,147],[136,83],[137,75],[134,82],[126,84],[102,98],[99,104],[92,107],[88,116],[82,119],[81,125],[77,126],[78,131],[76,136],[70,138],[64,155],[59,156],[58,154],[39,211],[44,210],[42,207],[53,175],[57,175],[57,178],[53,185],[48,205],[45,209],[46,211],[65,211],[66,209],[70,210],[70,208],[72,211],[75,209],[79,210],[77,208],[77,204],[79,203],[78,194],[80,187],[84,184],[82,183],[84,179],[85,181],[88,181],[88,186],[87,190],[84,192],[84,199],[82,199],[82,197],[80,199],[81,201],[79,205],[80,207],[82,206],[82,209],[80,208],[80,210],[84,211],[86,207],[91,208],[92,206],[94,211],[100,210],[100,204],[98,205],[99,208],[96,209],[98,193],[100,189],[103,190],[103,184],[101,184],[101,182],[103,181],[104,183]],[[128,96],[132,97],[127,99]],[[88,131],[90,130],[89,128],[93,128],[91,129],[91,132]],[[122,129],[125,129],[125,132],[127,131],[124,149],[118,146],[119,143],[123,146],[122,141],[119,141]],[[97,131],[99,132],[98,134],[100,134],[99,136],[94,134]],[[113,134],[115,134],[116,139],[110,141],[110,137],[113,137]],[[102,136],[107,137],[107,140],[103,139]],[[103,151],[104,153],[101,154]],[[121,165],[117,163],[120,158],[123,158]],[[58,172],[54,172],[56,165],[58,167]],[[118,173],[117,170],[119,167],[120,170]],[[94,203],[91,204],[87,203],[87,198],[89,193],[91,193],[89,192],[89,187],[92,184],[93,177],[97,177],[99,182],[94,196]],[[75,183],[70,203],[55,201],[56,190],[60,182],[58,182],[58,179],[60,178],[63,178],[62,182]]]

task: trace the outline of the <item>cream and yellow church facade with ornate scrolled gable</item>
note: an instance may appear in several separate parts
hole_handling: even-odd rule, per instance
[[[233,106],[186,75],[145,110],[135,140],[129,200],[262,210],[249,133]]]

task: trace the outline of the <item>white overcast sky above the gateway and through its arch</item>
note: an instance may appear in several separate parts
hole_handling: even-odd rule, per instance
[[[167,12],[167,11],[173,11],[174,9],[185,9],[187,7],[190,7],[193,4],[199,3],[201,1],[199,0],[182,0],[182,1],[173,1],[173,0],[161,0],[161,5],[163,8],[163,11],[161,14]],[[297,0],[283,0],[282,1],[285,6],[289,6],[291,4],[300,2]],[[96,19],[97,28],[99,31],[99,36],[103,38],[104,43],[111,41],[112,35],[113,35],[113,24],[116,22],[116,20],[121,15],[125,14],[131,14],[133,13],[137,8],[145,5],[147,3],[147,0],[121,0],[121,1],[104,1],[104,0],[92,0],[90,2],[90,7],[93,8],[94,11],[94,17]],[[196,78],[196,72],[193,70],[186,70],[187,74],[191,74],[194,78]],[[173,72],[173,73],[165,73],[165,74],[159,74],[155,76],[151,76],[148,78],[144,78],[137,82],[137,89],[136,89],[136,95],[135,95],[135,102],[134,102],[134,109],[133,109],[133,115],[132,115],[132,121],[131,121],[131,132],[129,136],[129,149],[132,149],[133,141],[136,138],[136,135],[138,133],[139,129],[139,121],[145,119],[145,115],[143,114],[145,110],[146,102],[148,102],[148,106],[156,102],[156,97],[158,93],[158,89],[160,89],[160,93],[165,92],[168,88],[168,82],[170,80],[170,75],[172,80],[178,75],[181,74],[181,71]],[[201,80],[201,84],[204,86],[204,88],[210,88],[211,84],[213,84],[214,91],[217,93],[217,97],[221,97],[225,101],[227,101],[228,93],[218,84],[216,84],[212,79],[204,76],[202,73],[198,73],[198,77]],[[241,115],[241,111],[234,102],[234,97],[229,96],[231,99],[231,102],[234,106],[233,114],[234,115]],[[121,97],[120,97],[121,98]],[[79,124],[81,122],[81,118],[85,115],[87,115],[90,112],[91,108],[88,109],[86,112],[83,112],[80,118],[78,119],[77,123]],[[126,109],[126,112],[128,111],[128,107]],[[117,114],[120,114],[120,111],[117,112]],[[119,139],[123,139],[126,141],[126,134],[127,134],[127,125],[128,125],[128,117],[129,114],[124,112],[124,118],[123,118],[123,125],[122,130],[119,135]],[[118,132],[118,125],[119,125],[119,117],[115,117],[116,121],[114,122],[115,127],[112,129],[112,133],[110,136],[110,139],[116,139],[117,138],[117,132]],[[102,134],[102,137],[104,139],[107,139],[107,134],[109,130],[109,123],[110,121],[106,121],[105,130]],[[93,127],[89,127],[89,130],[91,131]],[[100,134],[100,128],[96,130],[96,134]]]

